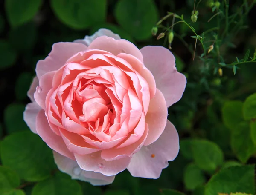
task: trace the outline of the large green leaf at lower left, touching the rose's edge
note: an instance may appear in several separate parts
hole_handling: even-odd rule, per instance
[[[30,131],[16,132],[1,143],[3,165],[14,169],[26,181],[41,181],[55,169],[52,150]]]

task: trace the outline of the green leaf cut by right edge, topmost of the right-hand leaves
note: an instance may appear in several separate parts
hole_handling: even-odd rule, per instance
[[[256,118],[256,93],[246,98],[243,106],[244,119]]]

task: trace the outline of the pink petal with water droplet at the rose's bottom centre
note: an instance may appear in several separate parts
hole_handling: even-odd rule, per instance
[[[123,157],[115,161],[105,161],[101,158],[101,152],[94,152],[90,155],[74,155],[81,169],[99,172],[106,176],[113,176],[125,170],[131,159]]]

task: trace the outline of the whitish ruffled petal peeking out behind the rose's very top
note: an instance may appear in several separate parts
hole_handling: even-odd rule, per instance
[[[97,32],[95,32],[93,35],[85,36],[84,39],[74,40],[74,42],[75,43],[83,43],[86,46],[89,46],[90,43],[92,43],[94,39],[96,39],[97,37],[100,37],[100,36],[107,36],[107,37],[112,37],[114,39],[121,39],[118,34],[113,33],[111,30],[102,28],[102,29],[99,29]]]

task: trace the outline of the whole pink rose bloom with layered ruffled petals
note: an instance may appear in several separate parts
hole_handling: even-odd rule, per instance
[[[111,184],[128,169],[159,178],[176,158],[179,137],[167,108],[182,97],[186,77],[162,46],[138,49],[110,30],[60,42],[39,60],[24,120],[74,179]]]

